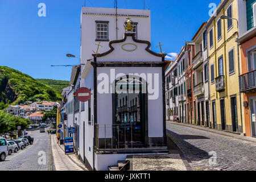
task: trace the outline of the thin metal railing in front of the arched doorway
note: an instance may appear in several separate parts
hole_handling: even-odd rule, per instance
[[[133,149],[134,144],[141,143],[139,125],[135,123],[95,124],[96,148],[101,151],[118,151]]]

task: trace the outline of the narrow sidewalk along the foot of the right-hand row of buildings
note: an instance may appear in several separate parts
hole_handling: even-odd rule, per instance
[[[211,133],[216,133],[216,134],[220,134],[220,135],[225,135],[226,137],[232,137],[232,138],[236,138],[236,139],[240,139],[240,140],[245,140],[247,142],[253,142],[256,143],[256,138],[253,137],[245,137],[239,134],[234,134],[231,133],[229,131],[221,131],[221,130],[215,130],[215,129],[210,129],[209,127],[204,127],[204,126],[197,126],[197,125],[190,125],[187,123],[177,123],[177,122],[173,122],[173,121],[166,121],[166,123],[172,123],[174,125],[180,125],[180,126],[186,126],[186,127],[192,127],[194,129],[199,129],[199,130],[204,130],[204,131],[208,131]]]

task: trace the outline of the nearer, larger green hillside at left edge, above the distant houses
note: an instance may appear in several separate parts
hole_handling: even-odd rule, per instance
[[[22,72],[0,66],[0,110],[25,101],[60,101],[60,93]]]

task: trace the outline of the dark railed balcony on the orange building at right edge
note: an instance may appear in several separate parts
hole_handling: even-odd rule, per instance
[[[242,93],[256,93],[256,69],[239,76],[239,87]]]

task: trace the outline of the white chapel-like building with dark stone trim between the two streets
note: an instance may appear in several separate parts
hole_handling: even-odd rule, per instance
[[[151,51],[150,29],[149,10],[117,9],[116,14],[82,7],[79,82],[92,96],[80,102],[77,154],[89,169],[107,170],[127,155],[168,152],[166,55]]]

